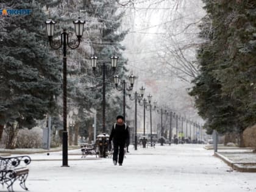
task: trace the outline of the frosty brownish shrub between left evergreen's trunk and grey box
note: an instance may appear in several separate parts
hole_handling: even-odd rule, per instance
[[[39,127],[21,129],[18,133],[16,148],[41,148],[43,130]]]

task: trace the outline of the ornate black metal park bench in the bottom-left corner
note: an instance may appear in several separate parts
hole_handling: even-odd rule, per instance
[[[13,183],[19,180],[21,188],[28,190],[25,182],[29,175],[27,165],[29,165],[30,162],[31,158],[29,156],[0,156],[0,183],[3,186],[7,185],[7,190],[13,192]]]

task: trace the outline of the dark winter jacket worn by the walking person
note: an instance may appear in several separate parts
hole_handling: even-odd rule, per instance
[[[113,140],[113,142],[115,143],[123,143],[123,144],[127,144],[127,142],[129,142],[129,127],[126,126],[125,124],[113,124],[112,126],[112,130],[110,133],[110,137],[109,137],[109,142],[111,142]]]

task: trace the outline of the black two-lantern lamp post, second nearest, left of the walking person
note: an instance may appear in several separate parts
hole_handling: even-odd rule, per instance
[[[101,66],[99,66],[100,70],[97,71],[97,60],[98,57],[96,57],[95,55],[93,55],[91,57],[91,66],[93,68],[93,74],[96,77],[101,77],[102,76],[102,133],[105,133],[105,76],[113,76],[113,74],[115,74],[115,69],[117,66],[117,61],[118,61],[118,57],[113,55],[112,57],[110,57],[111,60],[111,66],[112,69],[108,70],[106,63],[102,63]]]

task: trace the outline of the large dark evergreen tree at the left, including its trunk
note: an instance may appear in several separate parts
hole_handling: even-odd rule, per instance
[[[0,124],[7,128],[7,146],[15,147],[19,128],[32,128],[35,119],[54,113],[60,94],[60,61],[46,44],[46,17],[37,1],[15,1],[13,9],[31,9],[31,15],[8,16],[1,34]]]

